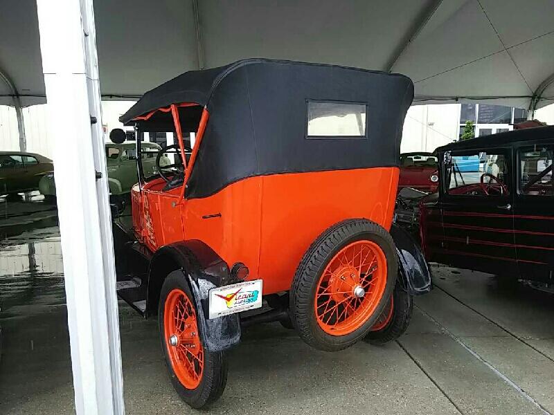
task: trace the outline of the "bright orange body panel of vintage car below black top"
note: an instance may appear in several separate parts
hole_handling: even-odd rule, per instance
[[[391,228],[398,176],[397,167],[254,176],[184,203],[180,187],[162,192],[157,179],[132,189],[134,229],[152,251],[199,239],[229,266],[246,264],[265,295],[288,291],[306,250],[334,223]]]

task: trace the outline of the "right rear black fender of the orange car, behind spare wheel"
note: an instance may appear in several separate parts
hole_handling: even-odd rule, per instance
[[[390,231],[398,256],[398,281],[409,295],[426,294],[433,288],[427,261],[406,230],[393,223]]]

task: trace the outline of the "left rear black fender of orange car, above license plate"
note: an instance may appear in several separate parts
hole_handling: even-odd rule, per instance
[[[198,329],[206,350],[223,351],[238,344],[241,335],[238,314],[208,319],[210,289],[232,281],[229,265],[202,241],[179,241],[154,253],[148,269],[147,313],[157,311],[163,279],[177,269],[176,265],[195,297]]]

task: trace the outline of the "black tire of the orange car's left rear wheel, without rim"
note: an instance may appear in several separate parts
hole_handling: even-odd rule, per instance
[[[160,293],[159,310],[158,310],[158,325],[160,331],[161,348],[163,356],[166,358],[166,366],[168,367],[171,383],[179,397],[184,402],[193,408],[202,408],[210,403],[213,403],[222,395],[227,382],[227,363],[223,352],[211,352],[204,349],[204,369],[202,371],[202,380],[195,389],[186,389],[179,382],[179,379],[173,371],[168,350],[166,347],[166,339],[163,325],[163,313],[166,299],[170,291],[174,288],[180,288],[188,298],[195,304],[193,295],[190,293],[190,287],[181,270],[172,271],[163,282]],[[196,313],[198,311],[196,310]]]

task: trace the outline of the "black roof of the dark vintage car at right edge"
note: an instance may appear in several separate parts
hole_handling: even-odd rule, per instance
[[[459,151],[482,149],[487,147],[502,147],[510,145],[512,142],[525,142],[528,140],[543,140],[554,138],[554,126],[534,127],[505,131],[503,133],[491,134],[490,136],[481,136],[470,140],[456,141],[447,145],[438,147],[435,151]]]

